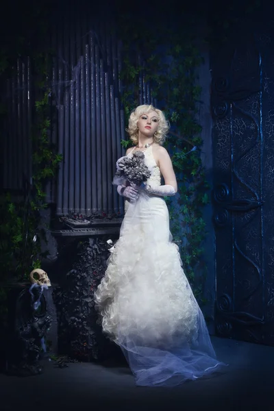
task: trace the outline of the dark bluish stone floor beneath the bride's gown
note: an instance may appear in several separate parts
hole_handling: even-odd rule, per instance
[[[271,410],[274,347],[212,338],[229,363],[216,377],[176,388],[136,387],[123,363],[77,363],[60,369],[47,360],[35,377],[0,375],[0,410]]]

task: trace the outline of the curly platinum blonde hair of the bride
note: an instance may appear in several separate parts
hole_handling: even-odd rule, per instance
[[[166,134],[169,132],[169,122],[166,120],[164,113],[158,108],[154,108],[151,104],[138,105],[138,107],[129,116],[129,126],[126,131],[129,134],[130,140],[134,145],[138,144],[138,120],[143,114],[148,114],[154,111],[158,116],[158,128],[153,134],[153,142],[162,145],[166,139]]]

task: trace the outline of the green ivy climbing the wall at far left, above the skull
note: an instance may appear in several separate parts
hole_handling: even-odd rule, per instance
[[[62,161],[56,147],[51,143],[51,93],[48,73],[51,65],[51,51],[41,50],[36,42],[45,34],[45,25],[38,16],[44,15],[44,8],[32,10],[29,19],[24,21],[22,32],[12,33],[11,47],[3,47],[0,54],[0,80],[5,81],[13,73],[16,60],[28,55],[32,61],[33,75],[36,79],[34,120],[29,139],[32,140],[32,175],[25,178],[23,192],[15,197],[12,191],[2,192],[0,196],[0,281],[27,279],[29,272],[40,268],[41,260],[47,251],[41,251],[41,238],[45,239],[45,229],[41,227],[41,212],[47,208],[45,187],[53,178]],[[47,10],[49,12],[49,10]],[[47,21],[45,14],[45,21]],[[45,23],[44,21],[44,23]],[[29,29],[32,27],[32,29]],[[35,33],[35,36],[34,36]],[[26,47],[27,45],[27,47]],[[8,116],[5,112],[2,115]],[[1,294],[1,290],[0,290]],[[3,294],[3,292],[2,292]],[[3,300],[3,299],[2,299]]]

